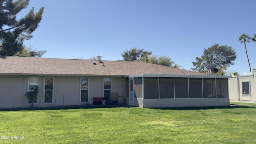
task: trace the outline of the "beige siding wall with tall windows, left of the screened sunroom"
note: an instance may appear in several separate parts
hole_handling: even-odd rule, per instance
[[[28,92],[29,76],[0,75],[0,108],[30,107],[28,98],[24,95]],[[80,102],[80,78],[89,78],[88,100],[94,97],[104,96],[105,77],[87,76],[35,76],[38,77],[38,104],[37,106],[68,106],[82,105],[88,102]],[[44,104],[44,78],[53,77],[53,103]],[[118,92],[119,96],[124,94],[125,77],[111,78],[111,92]]]

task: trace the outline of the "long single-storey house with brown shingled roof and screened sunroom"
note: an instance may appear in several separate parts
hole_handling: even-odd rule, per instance
[[[0,56],[0,108],[84,105],[94,98],[146,108],[228,106],[229,76],[145,62]]]

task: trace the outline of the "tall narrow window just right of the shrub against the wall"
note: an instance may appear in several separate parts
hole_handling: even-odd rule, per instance
[[[53,78],[44,78],[44,103],[53,102]]]

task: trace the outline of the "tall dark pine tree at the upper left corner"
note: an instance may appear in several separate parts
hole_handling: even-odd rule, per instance
[[[0,0],[0,55],[12,56],[24,49],[23,41],[32,38],[38,28],[44,7],[34,13],[31,8],[20,20],[16,15],[28,6],[29,0]]]

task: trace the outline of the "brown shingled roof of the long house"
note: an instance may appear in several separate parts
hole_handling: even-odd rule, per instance
[[[96,64],[93,64],[95,61]],[[0,74],[66,75],[66,76],[129,76],[136,74],[206,75],[146,62],[77,60],[0,56]]]

